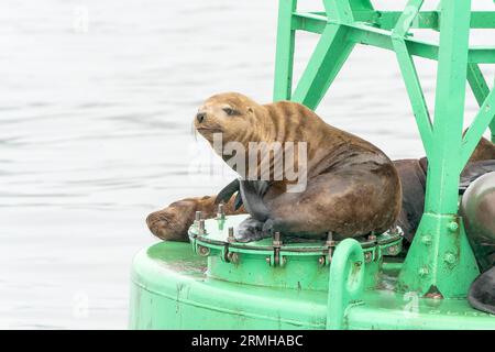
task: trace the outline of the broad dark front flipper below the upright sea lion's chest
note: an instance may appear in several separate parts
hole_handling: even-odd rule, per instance
[[[263,202],[263,196],[268,188],[265,180],[240,180],[240,193],[245,210],[256,220],[266,221],[270,210]]]

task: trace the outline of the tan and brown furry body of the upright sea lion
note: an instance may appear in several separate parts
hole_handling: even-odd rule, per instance
[[[235,113],[226,114],[226,107]],[[209,98],[199,110],[205,119],[195,121],[195,127],[210,143],[213,132],[223,134],[224,144],[238,142],[245,151],[250,142],[307,143],[306,189],[288,193],[288,179],[271,180],[262,199],[267,213],[251,213],[266,221],[264,232],[320,235],[332,231],[359,237],[394,224],[400,210],[400,183],[389,158],[371,143],[289,101],[260,106],[242,95],[223,94]],[[273,157],[270,163],[273,169]]]

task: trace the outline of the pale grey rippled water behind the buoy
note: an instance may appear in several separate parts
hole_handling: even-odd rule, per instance
[[[275,0],[0,2],[0,328],[127,327],[132,256],[155,242],[145,216],[232,177],[198,170],[221,163],[190,133],[197,107],[231,90],[271,100],[276,10]],[[316,40],[298,35],[296,76]],[[417,65],[432,108],[436,66]],[[424,155],[393,53],[356,50],[317,112],[391,157]]]

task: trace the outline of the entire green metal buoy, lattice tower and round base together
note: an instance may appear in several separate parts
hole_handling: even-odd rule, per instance
[[[278,10],[275,101],[316,109],[358,44],[397,56],[429,161],[425,213],[404,262],[388,256],[399,246],[394,234],[373,245],[245,248],[226,232],[241,218],[207,220],[206,232],[190,229],[190,244],[158,243],[136,255],[130,328],[495,329],[495,317],[465,299],[479,268],[458,216],[462,168],[487,128],[495,142],[495,92],[479,66],[495,64],[495,46],[469,45],[470,29],[495,29],[495,11],[471,11],[470,0],[442,0],[437,11],[420,11],[422,3],[380,11],[369,0],[323,0],[323,12],[298,12],[297,0],[279,0]],[[439,44],[410,29],[438,31]],[[293,91],[296,31],[320,38]],[[413,56],[438,61],[433,121]],[[481,109],[463,135],[468,82]]]

